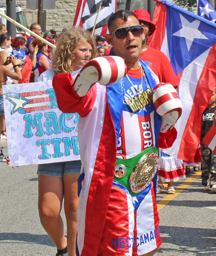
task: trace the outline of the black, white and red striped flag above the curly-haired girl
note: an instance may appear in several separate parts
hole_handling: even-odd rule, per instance
[[[92,32],[100,2],[101,0],[79,0],[73,27],[83,28]],[[108,19],[116,12],[116,8],[117,0],[102,0],[101,10],[95,27],[95,35],[105,36],[107,34]]]

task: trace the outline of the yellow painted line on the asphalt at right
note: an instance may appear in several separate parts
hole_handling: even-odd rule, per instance
[[[191,177],[187,178],[181,185],[179,185],[177,188],[175,188],[175,194],[168,194],[163,198],[161,201],[157,203],[158,211],[161,210],[166,204],[168,204],[172,199],[174,199],[181,191],[183,191],[185,188],[187,188],[191,183],[193,183],[197,178],[199,178],[201,175],[201,172],[197,172],[197,174],[191,175]],[[164,186],[167,188],[167,184],[164,184]],[[162,189],[161,191],[164,191]]]

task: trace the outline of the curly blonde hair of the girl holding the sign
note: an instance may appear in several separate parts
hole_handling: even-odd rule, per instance
[[[95,58],[97,51],[95,48],[95,42],[91,36],[82,29],[69,29],[62,33],[60,38],[57,40],[56,49],[52,58],[53,68],[55,75],[61,73],[72,73],[74,54],[76,47],[86,40],[92,46],[92,58]]]

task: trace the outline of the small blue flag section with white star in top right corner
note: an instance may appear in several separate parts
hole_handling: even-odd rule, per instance
[[[204,19],[208,19],[215,23],[216,21],[216,10],[206,0],[198,0],[198,15]]]

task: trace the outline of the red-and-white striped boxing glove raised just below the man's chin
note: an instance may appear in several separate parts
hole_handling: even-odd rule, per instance
[[[101,85],[117,83],[126,75],[127,66],[118,56],[105,56],[92,59],[78,73],[73,83],[74,91],[84,96],[95,82]]]

